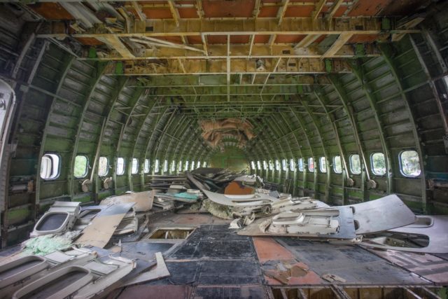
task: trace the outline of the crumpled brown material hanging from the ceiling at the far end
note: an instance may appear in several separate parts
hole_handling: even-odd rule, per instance
[[[241,146],[253,139],[253,125],[247,120],[226,118],[223,120],[202,120],[202,137],[213,148],[218,146],[225,137],[236,138]]]

